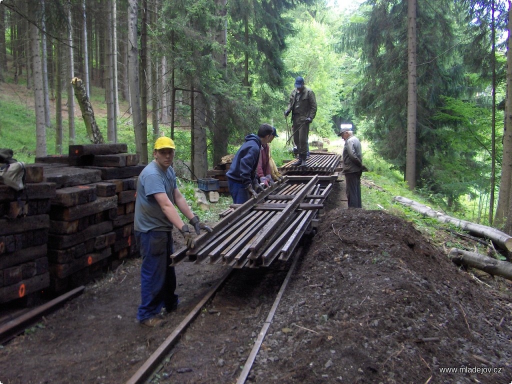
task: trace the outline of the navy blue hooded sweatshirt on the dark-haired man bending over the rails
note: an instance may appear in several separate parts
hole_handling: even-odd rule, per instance
[[[261,145],[261,139],[257,135],[251,133],[245,137],[245,143],[234,155],[233,162],[226,173],[231,181],[245,186],[257,182],[256,168],[258,167]]]

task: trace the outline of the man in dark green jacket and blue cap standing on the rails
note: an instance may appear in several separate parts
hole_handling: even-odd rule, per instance
[[[304,78],[298,76],[295,79],[295,89],[290,95],[285,116],[291,112],[293,127],[293,141],[297,146],[298,160],[295,166],[307,165],[309,124],[316,115],[316,98],[313,91],[304,86]]]

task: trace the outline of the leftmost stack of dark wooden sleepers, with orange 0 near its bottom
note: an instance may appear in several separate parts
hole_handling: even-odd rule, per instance
[[[48,288],[50,203],[56,185],[44,182],[42,167],[26,165],[25,189],[0,184],[0,303]]]

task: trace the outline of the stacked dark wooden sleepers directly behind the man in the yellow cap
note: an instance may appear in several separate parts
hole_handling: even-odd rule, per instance
[[[126,152],[126,144],[71,145],[68,156],[36,158],[57,187],[48,237],[52,290],[87,283],[138,254],[133,222],[144,166]]]

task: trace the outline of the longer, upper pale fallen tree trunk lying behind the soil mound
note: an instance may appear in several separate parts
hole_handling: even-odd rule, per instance
[[[395,196],[394,199],[395,201],[414,209],[423,216],[428,216],[437,219],[441,223],[453,224],[459,228],[462,228],[470,232],[474,236],[483,237],[485,239],[491,240],[495,245],[499,246],[501,249],[512,251],[512,237],[508,236],[508,234],[496,228],[487,227],[485,225],[475,224],[460,219],[455,219],[453,217],[441,214],[440,212],[435,211],[434,209],[429,208],[426,205],[420,204],[414,200],[405,197]]]

